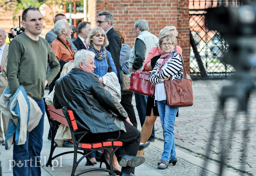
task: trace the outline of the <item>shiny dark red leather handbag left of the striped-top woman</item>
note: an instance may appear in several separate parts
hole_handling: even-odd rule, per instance
[[[132,73],[129,90],[153,97],[155,95],[156,84],[148,81],[151,72],[144,71],[144,69]]]

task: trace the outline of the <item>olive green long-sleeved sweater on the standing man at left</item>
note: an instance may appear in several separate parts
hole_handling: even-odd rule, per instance
[[[44,83],[48,85],[60,71],[60,64],[47,41],[39,36],[35,41],[22,33],[12,39],[7,61],[7,79],[12,95],[22,85],[28,96],[44,98]],[[47,62],[50,71],[46,76]]]

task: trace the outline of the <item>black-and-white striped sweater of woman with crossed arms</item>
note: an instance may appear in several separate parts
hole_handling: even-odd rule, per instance
[[[167,64],[166,68],[162,69],[161,71],[156,71],[159,67],[159,64],[156,63],[151,75],[149,76],[150,83],[163,83],[163,79],[170,76],[172,80],[179,80],[182,78],[183,67],[179,53],[175,53],[165,64]]]

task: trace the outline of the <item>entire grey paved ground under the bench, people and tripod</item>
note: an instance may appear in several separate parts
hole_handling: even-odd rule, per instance
[[[231,99],[226,102],[227,116],[214,116],[219,112],[217,104],[221,87],[229,84],[231,82],[227,80],[193,81],[194,105],[180,108],[179,117],[176,117],[175,121],[177,164],[175,166],[170,164],[165,170],[157,169],[157,162],[161,158],[164,144],[161,123],[158,118],[155,124],[157,140],[145,150],[146,161],[135,169],[136,176],[220,175],[221,156],[225,158],[226,163],[221,175],[256,175],[255,95],[252,94],[250,99],[248,115],[236,113],[237,102]],[[137,121],[139,122],[139,119]],[[138,129],[141,129],[140,124],[138,124]],[[45,164],[50,151],[50,141],[47,140],[48,130],[49,124],[45,117],[41,164]],[[72,149],[58,148],[58,150]],[[12,175],[12,168],[9,166],[9,160],[12,159],[12,148],[7,151],[1,145],[0,152],[2,175]],[[204,156],[209,156],[210,159],[205,159]],[[58,158],[54,163],[56,167],[42,167],[42,175],[70,175],[72,160],[72,154]],[[79,164],[77,171],[84,169],[84,163],[82,161]],[[99,166],[99,162],[97,166]],[[83,175],[96,176],[108,175],[108,173],[89,172]]]

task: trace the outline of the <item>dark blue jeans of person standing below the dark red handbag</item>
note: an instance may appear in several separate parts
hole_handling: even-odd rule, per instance
[[[135,102],[136,102],[136,108],[138,111],[138,115],[140,118],[140,125],[143,126],[145,120],[146,120],[146,107],[147,107],[147,101],[148,97],[146,95],[141,95],[139,93],[134,92]],[[153,129],[151,132],[151,135],[149,139],[155,139],[155,126],[153,125]]]

